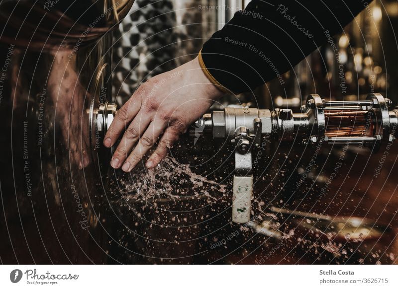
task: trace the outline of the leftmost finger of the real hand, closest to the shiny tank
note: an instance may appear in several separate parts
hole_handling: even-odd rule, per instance
[[[125,127],[137,115],[141,108],[142,98],[140,96],[140,88],[133,94],[132,97],[117,111],[115,118],[112,121],[108,131],[105,134],[103,144],[106,147],[111,147],[116,143],[120,134],[124,131]]]

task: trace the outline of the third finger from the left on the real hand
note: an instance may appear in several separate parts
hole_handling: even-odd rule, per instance
[[[156,143],[165,127],[166,124],[159,121],[150,123],[148,129],[141,136],[140,141],[124,162],[122,166],[123,171],[131,171],[136,164],[142,160],[142,157],[152,148],[153,144]]]

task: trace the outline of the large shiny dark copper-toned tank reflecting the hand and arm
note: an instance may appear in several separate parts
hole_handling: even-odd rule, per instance
[[[76,2],[0,3],[2,263],[108,259],[90,109],[111,97],[111,30],[133,1]]]

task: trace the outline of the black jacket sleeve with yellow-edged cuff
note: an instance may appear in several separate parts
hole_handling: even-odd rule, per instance
[[[200,65],[221,87],[250,91],[292,69],[371,1],[252,0],[204,43]]]

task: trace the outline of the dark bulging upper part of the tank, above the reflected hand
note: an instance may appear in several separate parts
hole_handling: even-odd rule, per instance
[[[3,1],[0,24],[4,30],[0,41],[39,51],[82,47],[117,27],[134,1],[112,2],[93,4],[86,0],[65,6],[63,1],[57,1],[48,7],[41,1]]]

